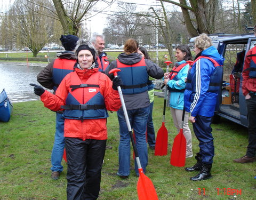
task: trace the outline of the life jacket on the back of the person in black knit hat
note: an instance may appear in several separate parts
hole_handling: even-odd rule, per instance
[[[76,60],[57,58],[53,63],[52,81],[53,90],[56,91],[62,79],[74,70]]]

